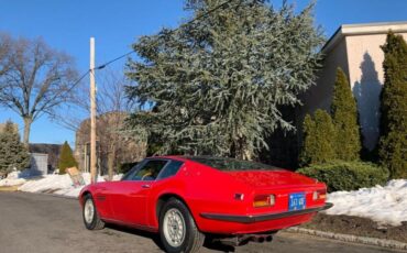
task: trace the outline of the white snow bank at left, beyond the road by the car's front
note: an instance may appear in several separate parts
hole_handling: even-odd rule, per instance
[[[90,174],[82,173],[86,184],[90,183]],[[113,180],[120,180],[122,175],[114,175]],[[105,178],[99,176],[98,182],[105,182]],[[76,187],[73,184],[68,174],[65,175],[45,175],[43,177],[21,178],[21,173],[11,173],[6,179],[0,180],[0,186],[16,186],[21,191],[29,193],[48,193],[64,195],[69,197],[78,197],[84,186]]]

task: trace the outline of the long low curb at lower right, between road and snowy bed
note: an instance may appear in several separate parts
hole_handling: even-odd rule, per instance
[[[316,237],[326,238],[326,239],[333,239],[333,240],[338,240],[342,242],[355,242],[355,243],[388,248],[388,249],[394,249],[394,250],[407,250],[407,243],[395,241],[395,240],[356,237],[356,235],[350,235],[350,234],[343,234],[343,233],[332,233],[332,232],[302,229],[302,228],[296,228],[296,227],[286,229],[285,231],[305,233],[305,234],[316,235]]]

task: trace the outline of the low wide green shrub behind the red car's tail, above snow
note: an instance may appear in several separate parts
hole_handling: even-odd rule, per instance
[[[372,163],[343,161],[312,165],[297,172],[326,183],[330,193],[384,185],[389,175],[387,168]]]

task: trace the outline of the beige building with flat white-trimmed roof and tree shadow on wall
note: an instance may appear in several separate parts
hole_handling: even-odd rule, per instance
[[[407,21],[341,25],[322,48],[323,67],[317,86],[302,97],[305,106],[297,111],[297,122],[302,122],[306,113],[318,108],[329,110],[336,72],[341,67],[358,101],[363,144],[373,150],[378,138],[380,94],[384,82],[381,45],[385,43],[389,30],[407,40]]]

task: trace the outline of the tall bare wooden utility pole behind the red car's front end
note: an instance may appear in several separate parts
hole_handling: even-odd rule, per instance
[[[95,37],[90,37],[90,180],[97,182]]]

